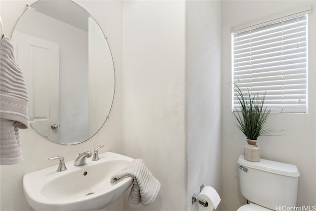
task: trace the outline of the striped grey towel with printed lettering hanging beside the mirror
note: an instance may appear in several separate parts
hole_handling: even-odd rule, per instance
[[[18,128],[29,128],[28,93],[6,36],[0,41],[0,75],[0,164],[12,165],[23,160]]]

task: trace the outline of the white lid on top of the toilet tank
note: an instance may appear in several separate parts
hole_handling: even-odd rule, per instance
[[[248,167],[251,169],[259,169],[271,173],[276,173],[285,176],[298,177],[300,172],[295,165],[279,163],[276,161],[270,161],[265,159],[260,159],[259,162],[247,161],[240,155],[237,163],[243,167]]]

